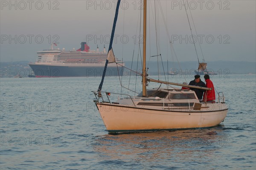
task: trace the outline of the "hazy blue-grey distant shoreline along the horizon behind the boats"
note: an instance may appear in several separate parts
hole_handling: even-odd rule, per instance
[[[6,77],[4,73],[6,71],[12,73],[13,75],[11,77],[14,77],[15,72],[18,72],[20,70],[26,71],[26,75],[31,74],[31,68],[29,67],[29,61],[15,61],[15,62],[0,62],[0,69],[1,69],[1,77]],[[132,70],[136,70],[137,68],[137,62],[131,62],[127,61],[125,62],[125,67],[131,68],[131,65],[133,65]],[[164,71],[167,75],[169,71],[175,70],[176,73],[178,73],[176,76],[182,76],[182,75],[194,75],[195,70],[198,67],[198,62],[169,62],[167,65],[167,62],[159,62],[159,73],[161,75],[163,74],[163,66]],[[180,68],[178,67],[180,66]],[[141,62],[138,63],[138,71],[141,72]],[[147,65],[148,74],[150,75],[158,75],[158,69],[157,69],[157,62],[153,61],[150,62],[149,65]],[[168,68],[168,69],[167,69]],[[236,61],[214,61],[214,62],[207,62],[207,69],[212,71],[216,75],[227,75],[227,74],[256,74],[256,62],[236,62]],[[129,70],[126,70],[128,74],[130,74]],[[135,73],[134,73],[135,74]],[[10,76],[7,76],[10,77]],[[173,75],[169,75],[169,77],[174,77]]]

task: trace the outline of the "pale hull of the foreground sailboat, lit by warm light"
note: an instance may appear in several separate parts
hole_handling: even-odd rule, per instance
[[[135,108],[124,105],[96,103],[102,120],[111,132],[150,131],[214,127],[224,121],[227,109],[218,104],[201,111],[179,109]],[[218,107],[218,108],[217,108]],[[215,108],[215,109],[209,109]]]

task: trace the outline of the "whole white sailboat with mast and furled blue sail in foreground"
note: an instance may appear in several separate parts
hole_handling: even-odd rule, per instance
[[[115,32],[120,0],[116,3],[116,14],[114,18],[111,41],[108,50],[108,63],[115,62],[112,49],[113,35]],[[215,127],[224,121],[227,116],[227,104],[224,95],[218,94],[218,101],[215,103],[201,102],[194,91],[180,88],[152,88],[147,89],[148,82],[157,82],[167,85],[183,86],[187,88],[200,88],[199,86],[185,85],[174,82],[151,79],[146,72],[146,14],[147,0],[143,2],[143,71],[142,89],[137,96],[121,94],[122,98],[111,101],[109,95],[117,94],[102,91],[102,81],[97,91],[93,91],[94,100],[102,117],[108,133],[134,133],[156,130],[180,130],[191,128]],[[221,95],[222,94],[222,95]],[[104,97],[103,97],[104,96]]]

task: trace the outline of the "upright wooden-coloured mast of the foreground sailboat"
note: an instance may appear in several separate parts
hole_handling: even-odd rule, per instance
[[[142,71],[142,95],[147,97],[146,77],[146,34],[147,34],[147,0],[143,2],[143,71]]]

